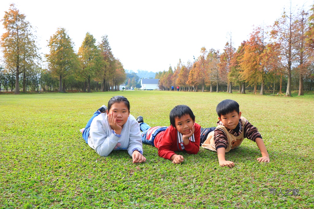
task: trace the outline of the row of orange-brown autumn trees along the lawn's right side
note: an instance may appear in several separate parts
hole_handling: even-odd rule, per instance
[[[210,92],[220,90],[232,93],[246,88],[256,94],[265,94],[265,89],[275,89],[291,96],[292,87],[313,90],[314,81],[314,5],[310,11],[299,9],[296,13],[284,12],[272,26],[255,27],[250,38],[236,49],[230,41],[222,52],[202,47],[200,56],[192,63],[179,60],[172,70],[160,71],[160,88],[171,90],[180,86],[183,91],[198,91],[208,88]]]

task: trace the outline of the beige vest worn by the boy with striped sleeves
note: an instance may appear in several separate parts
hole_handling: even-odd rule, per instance
[[[237,137],[234,136],[233,134],[229,133],[225,126],[222,126],[222,125],[217,126],[217,128],[220,128],[225,132],[225,135],[227,136],[227,139],[228,139],[228,147],[226,148],[225,152],[229,152],[230,149],[235,149],[235,148],[239,147],[240,144],[242,143],[243,138],[244,138],[244,124],[246,123],[247,120],[244,117],[241,117],[241,120],[242,120],[243,131]],[[202,144],[202,147],[205,149],[209,149],[209,150],[217,152],[216,146],[215,146],[215,141],[214,141],[214,131],[212,131],[208,134],[206,140]]]

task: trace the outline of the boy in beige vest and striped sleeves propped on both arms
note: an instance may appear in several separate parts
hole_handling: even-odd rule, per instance
[[[225,159],[225,153],[240,146],[244,138],[256,142],[262,157],[259,162],[269,162],[269,156],[261,134],[246,118],[241,117],[239,104],[230,99],[223,100],[216,107],[219,121],[214,131],[210,132],[202,147],[217,152],[219,165],[235,166],[234,162]]]

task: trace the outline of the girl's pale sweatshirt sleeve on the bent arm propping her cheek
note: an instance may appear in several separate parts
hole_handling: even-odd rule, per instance
[[[119,137],[106,130],[104,120],[93,120],[90,125],[90,140],[97,154],[100,156],[108,156],[118,143]]]

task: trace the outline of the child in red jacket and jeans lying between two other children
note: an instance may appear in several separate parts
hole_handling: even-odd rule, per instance
[[[143,117],[138,116],[142,142],[158,148],[158,155],[173,163],[183,162],[183,156],[176,151],[186,151],[188,154],[197,154],[199,151],[201,126],[195,123],[195,116],[190,107],[177,105],[169,115],[170,126],[150,127],[144,123]]]

